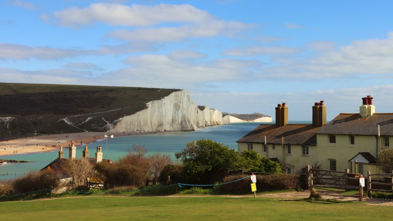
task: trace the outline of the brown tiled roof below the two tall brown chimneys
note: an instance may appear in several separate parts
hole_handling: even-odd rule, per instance
[[[237,142],[264,143],[266,136],[266,143],[269,144],[281,144],[281,138],[284,137],[284,144],[316,145],[314,133],[319,129],[309,124],[288,124],[282,127],[261,124]]]

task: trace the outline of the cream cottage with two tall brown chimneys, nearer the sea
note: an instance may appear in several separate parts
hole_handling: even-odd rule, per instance
[[[315,133],[326,124],[323,101],[312,107],[312,124],[288,124],[288,107],[276,107],[276,124],[261,124],[237,140],[238,151],[256,150],[261,157],[276,160],[287,173],[295,173],[307,164],[317,162]]]

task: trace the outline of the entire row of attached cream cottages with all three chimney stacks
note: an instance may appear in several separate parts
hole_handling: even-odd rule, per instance
[[[391,145],[393,113],[375,113],[372,97],[362,99],[360,113],[340,113],[328,124],[323,101],[312,107],[311,125],[288,124],[288,108],[279,105],[276,124],[261,124],[240,138],[238,150],[253,149],[262,157],[276,158],[287,173],[316,162],[322,169],[377,173],[378,153]]]

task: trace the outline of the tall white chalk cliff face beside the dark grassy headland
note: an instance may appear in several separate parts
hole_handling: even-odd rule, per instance
[[[148,102],[145,110],[118,119],[110,131],[190,131],[223,123],[229,123],[229,118],[224,120],[221,111],[198,107],[190,100],[188,91],[181,90]]]

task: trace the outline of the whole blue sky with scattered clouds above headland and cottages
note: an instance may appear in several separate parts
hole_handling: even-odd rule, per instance
[[[393,112],[393,1],[0,0],[0,82],[178,88],[229,113]]]

